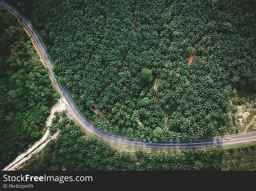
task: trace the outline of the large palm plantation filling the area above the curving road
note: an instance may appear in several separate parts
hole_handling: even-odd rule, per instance
[[[96,126],[193,140],[228,131],[234,85],[255,92],[255,8],[255,0],[38,0],[33,21],[46,27],[55,70]]]

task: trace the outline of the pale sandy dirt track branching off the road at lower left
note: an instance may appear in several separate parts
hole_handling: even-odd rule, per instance
[[[66,108],[65,102],[63,101],[63,99],[60,99],[51,108],[51,113],[50,113],[49,117],[46,120],[45,134],[43,135],[43,137],[40,140],[38,140],[37,142],[35,142],[35,144],[33,144],[27,151],[25,151],[24,153],[17,156],[17,158],[15,158],[15,160],[13,160],[13,162],[11,162],[9,165],[7,165],[3,170],[15,170],[17,167],[19,167],[19,165],[21,165],[26,160],[31,158],[31,156],[34,153],[37,153],[42,148],[44,148],[45,145],[49,142],[49,140],[56,138],[59,131],[56,131],[56,133],[54,135],[49,137],[50,131],[48,130],[47,127],[51,124],[51,119],[54,117],[54,112],[65,110],[65,108]]]

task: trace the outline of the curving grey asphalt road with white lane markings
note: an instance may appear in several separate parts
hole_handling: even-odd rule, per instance
[[[52,78],[56,78],[57,76],[52,70],[53,62],[51,58],[46,56],[47,50],[45,48],[44,43],[42,42],[42,39],[36,32],[35,28],[31,25],[31,23],[21,14],[19,13],[13,6],[6,3],[5,1],[0,0],[0,5],[4,8],[6,8],[10,13],[15,15],[17,19],[23,24],[23,26],[29,31],[31,34],[33,40],[35,41],[40,53],[42,54],[42,57],[47,65],[47,68],[49,69],[50,75]],[[130,145],[130,146],[137,146],[137,147],[147,147],[147,148],[161,148],[161,149],[186,149],[186,148],[199,148],[199,147],[210,147],[210,146],[223,146],[228,144],[236,144],[236,143],[243,143],[243,142],[250,142],[250,141],[256,141],[256,133],[244,133],[244,134],[238,134],[238,135],[230,135],[228,136],[230,140],[227,140],[227,136],[218,136],[214,138],[205,138],[205,139],[199,139],[194,141],[164,141],[164,142],[146,142],[145,140],[136,139],[136,138],[130,138],[122,135],[115,135],[112,133],[108,133],[106,131],[102,131],[95,127],[90,120],[85,118],[81,111],[78,109],[76,103],[73,101],[70,93],[67,91],[65,85],[60,84],[57,80],[57,82],[54,82],[56,85],[56,88],[59,92],[63,91],[64,93],[61,93],[63,99],[67,102],[67,109],[70,111],[70,113],[73,115],[73,119],[80,124],[82,128],[84,128],[86,131],[92,133],[98,138],[101,138],[103,140],[114,142],[118,144],[124,144],[124,145]],[[130,141],[130,139],[133,139],[133,141]]]

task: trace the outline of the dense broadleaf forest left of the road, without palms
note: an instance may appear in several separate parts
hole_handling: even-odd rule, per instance
[[[0,7],[0,168],[38,140],[58,97],[29,36]]]

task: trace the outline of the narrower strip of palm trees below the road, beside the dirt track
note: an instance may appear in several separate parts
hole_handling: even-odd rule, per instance
[[[57,119],[57,120],[56,120]],[[94,136],[86,137],[68,119],[56,113],[51,126],[60,129],[42,157],[47,170],[221,170],[225,150],[221,147],[187,149],[182,153],[120,152]]]

